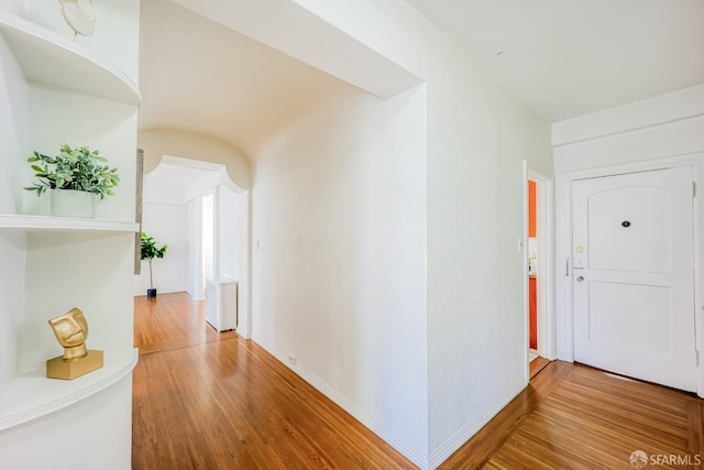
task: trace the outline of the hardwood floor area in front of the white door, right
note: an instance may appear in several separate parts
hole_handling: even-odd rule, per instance
[[[631,469],[642,450],[701,469],[703,401],[586,365],[549,363],[440,469]]]

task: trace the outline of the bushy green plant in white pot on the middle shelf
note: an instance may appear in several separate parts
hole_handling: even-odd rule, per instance
[[[92,218],[95,198],[114,195],[112,189],[120,183],[118,168],[88,146],[64,144],[56,156],[34,152],[28,162],[38,182],[24,189],[37,196],[48,190],[53,216]]]

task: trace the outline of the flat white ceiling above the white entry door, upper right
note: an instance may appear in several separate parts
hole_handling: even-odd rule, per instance
[[[704,84],[703,0],[406,0],[549,122]]]

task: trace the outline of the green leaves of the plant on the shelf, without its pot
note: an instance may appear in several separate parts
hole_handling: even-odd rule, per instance
[[[99,151],[91,152],[88,146],[72,149],[64,144],[56,156],[34,152],[28,162],[38,183],[24,189],[34,190],[37,196],[47,189],[69,189],[91,193],[103,199],[114,195],[112,189],[120,183],[118,168],[111,168]]]

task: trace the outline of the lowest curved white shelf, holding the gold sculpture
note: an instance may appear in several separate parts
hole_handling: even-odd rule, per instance
[[[105,353],[105,365],[67,381],[47,379],[45,367],[15,376],[0,395],[0,430],[65,408],[125,378],[136,365],[139,350]]]

